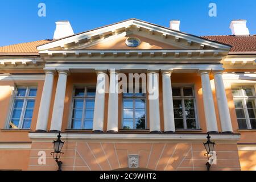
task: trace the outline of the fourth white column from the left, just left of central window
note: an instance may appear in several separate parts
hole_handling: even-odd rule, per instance
[[[108,104],[108,132],[118,131],[118,90],[115,87],[118,85],[118,73],[110,71],[109,83],[109,104]]]

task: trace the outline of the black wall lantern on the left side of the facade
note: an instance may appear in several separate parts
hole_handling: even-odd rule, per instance
[[[53,159],[55,159],[56,163],[58,164],[58,167],[59,167],[58,171],[61,171],[62,162],[59,159],[60,159],[60,155],[64,154],[64,152],[61,152],[64,142],[62,142],[60,139],[61,138],[60,132],[59,132],[59,135],[57,135],[57,137],[58,139],[53,140],[52,142],[54,152],[51,152],[51,155],[53,154]]]

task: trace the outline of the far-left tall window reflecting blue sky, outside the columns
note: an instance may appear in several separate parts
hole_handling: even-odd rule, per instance
[[[34,87],[16,88],[9,129],[30,129],[36,92]]]

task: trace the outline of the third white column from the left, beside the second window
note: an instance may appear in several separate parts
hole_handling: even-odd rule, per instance
[[[104,125],[105,93],[108,75],[97,72],[97,87],[94,104],[93,131],[102,132]]]

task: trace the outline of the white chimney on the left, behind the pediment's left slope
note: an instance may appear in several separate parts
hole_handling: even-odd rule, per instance
[[[60,39],[70,35],[74,35],[74,32],[69,21],[68,20],[57,21],[53,39]]]

